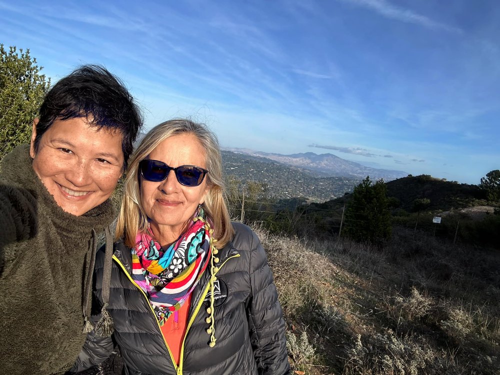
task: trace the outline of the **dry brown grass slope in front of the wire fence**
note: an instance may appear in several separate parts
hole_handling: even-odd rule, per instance
[[[255,230],[267,249],[288,337],[295,337],[295,369],[500,374],[498,252],[425,236],[415,241],[411,231],[394,233],[376,250]]]

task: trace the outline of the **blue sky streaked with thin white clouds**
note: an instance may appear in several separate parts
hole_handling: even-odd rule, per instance
[[[466,183],[500,168],[496,0],[0,0],[0,24],[53,81],[105,65],[146,128],[191,116],[226,147]]]

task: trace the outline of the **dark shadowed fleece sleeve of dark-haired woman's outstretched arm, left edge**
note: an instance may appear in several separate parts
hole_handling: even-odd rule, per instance
[[[36,199],[28,190],[0,181],[0,273],[5,254],[3,247],[15,241],[32,238],[37,230]]]

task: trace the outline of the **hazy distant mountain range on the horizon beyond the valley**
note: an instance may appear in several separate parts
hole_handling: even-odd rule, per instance
[[[402,170],[371,168],[354,161],[342,159],[331,153],[321,153],[318,155],[314,152],[305,152],[283,155],[280,153],[254,151],[248,148],[224,147],[223,149],[256,157],[265,157],[283,164],[308,169],[327,177],[364,178],[369,175],[371,180],[383,178],[385,181],[390,181],[408,175],[408,173]]]

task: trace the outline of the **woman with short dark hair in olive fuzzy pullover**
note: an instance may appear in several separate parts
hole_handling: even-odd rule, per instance
[[[64,373],[78,356],[99,237],[115,218],[109,198],[141,124],[123,83],[84,65],[45,95],[30,144],[2,159],[1,374]]]

